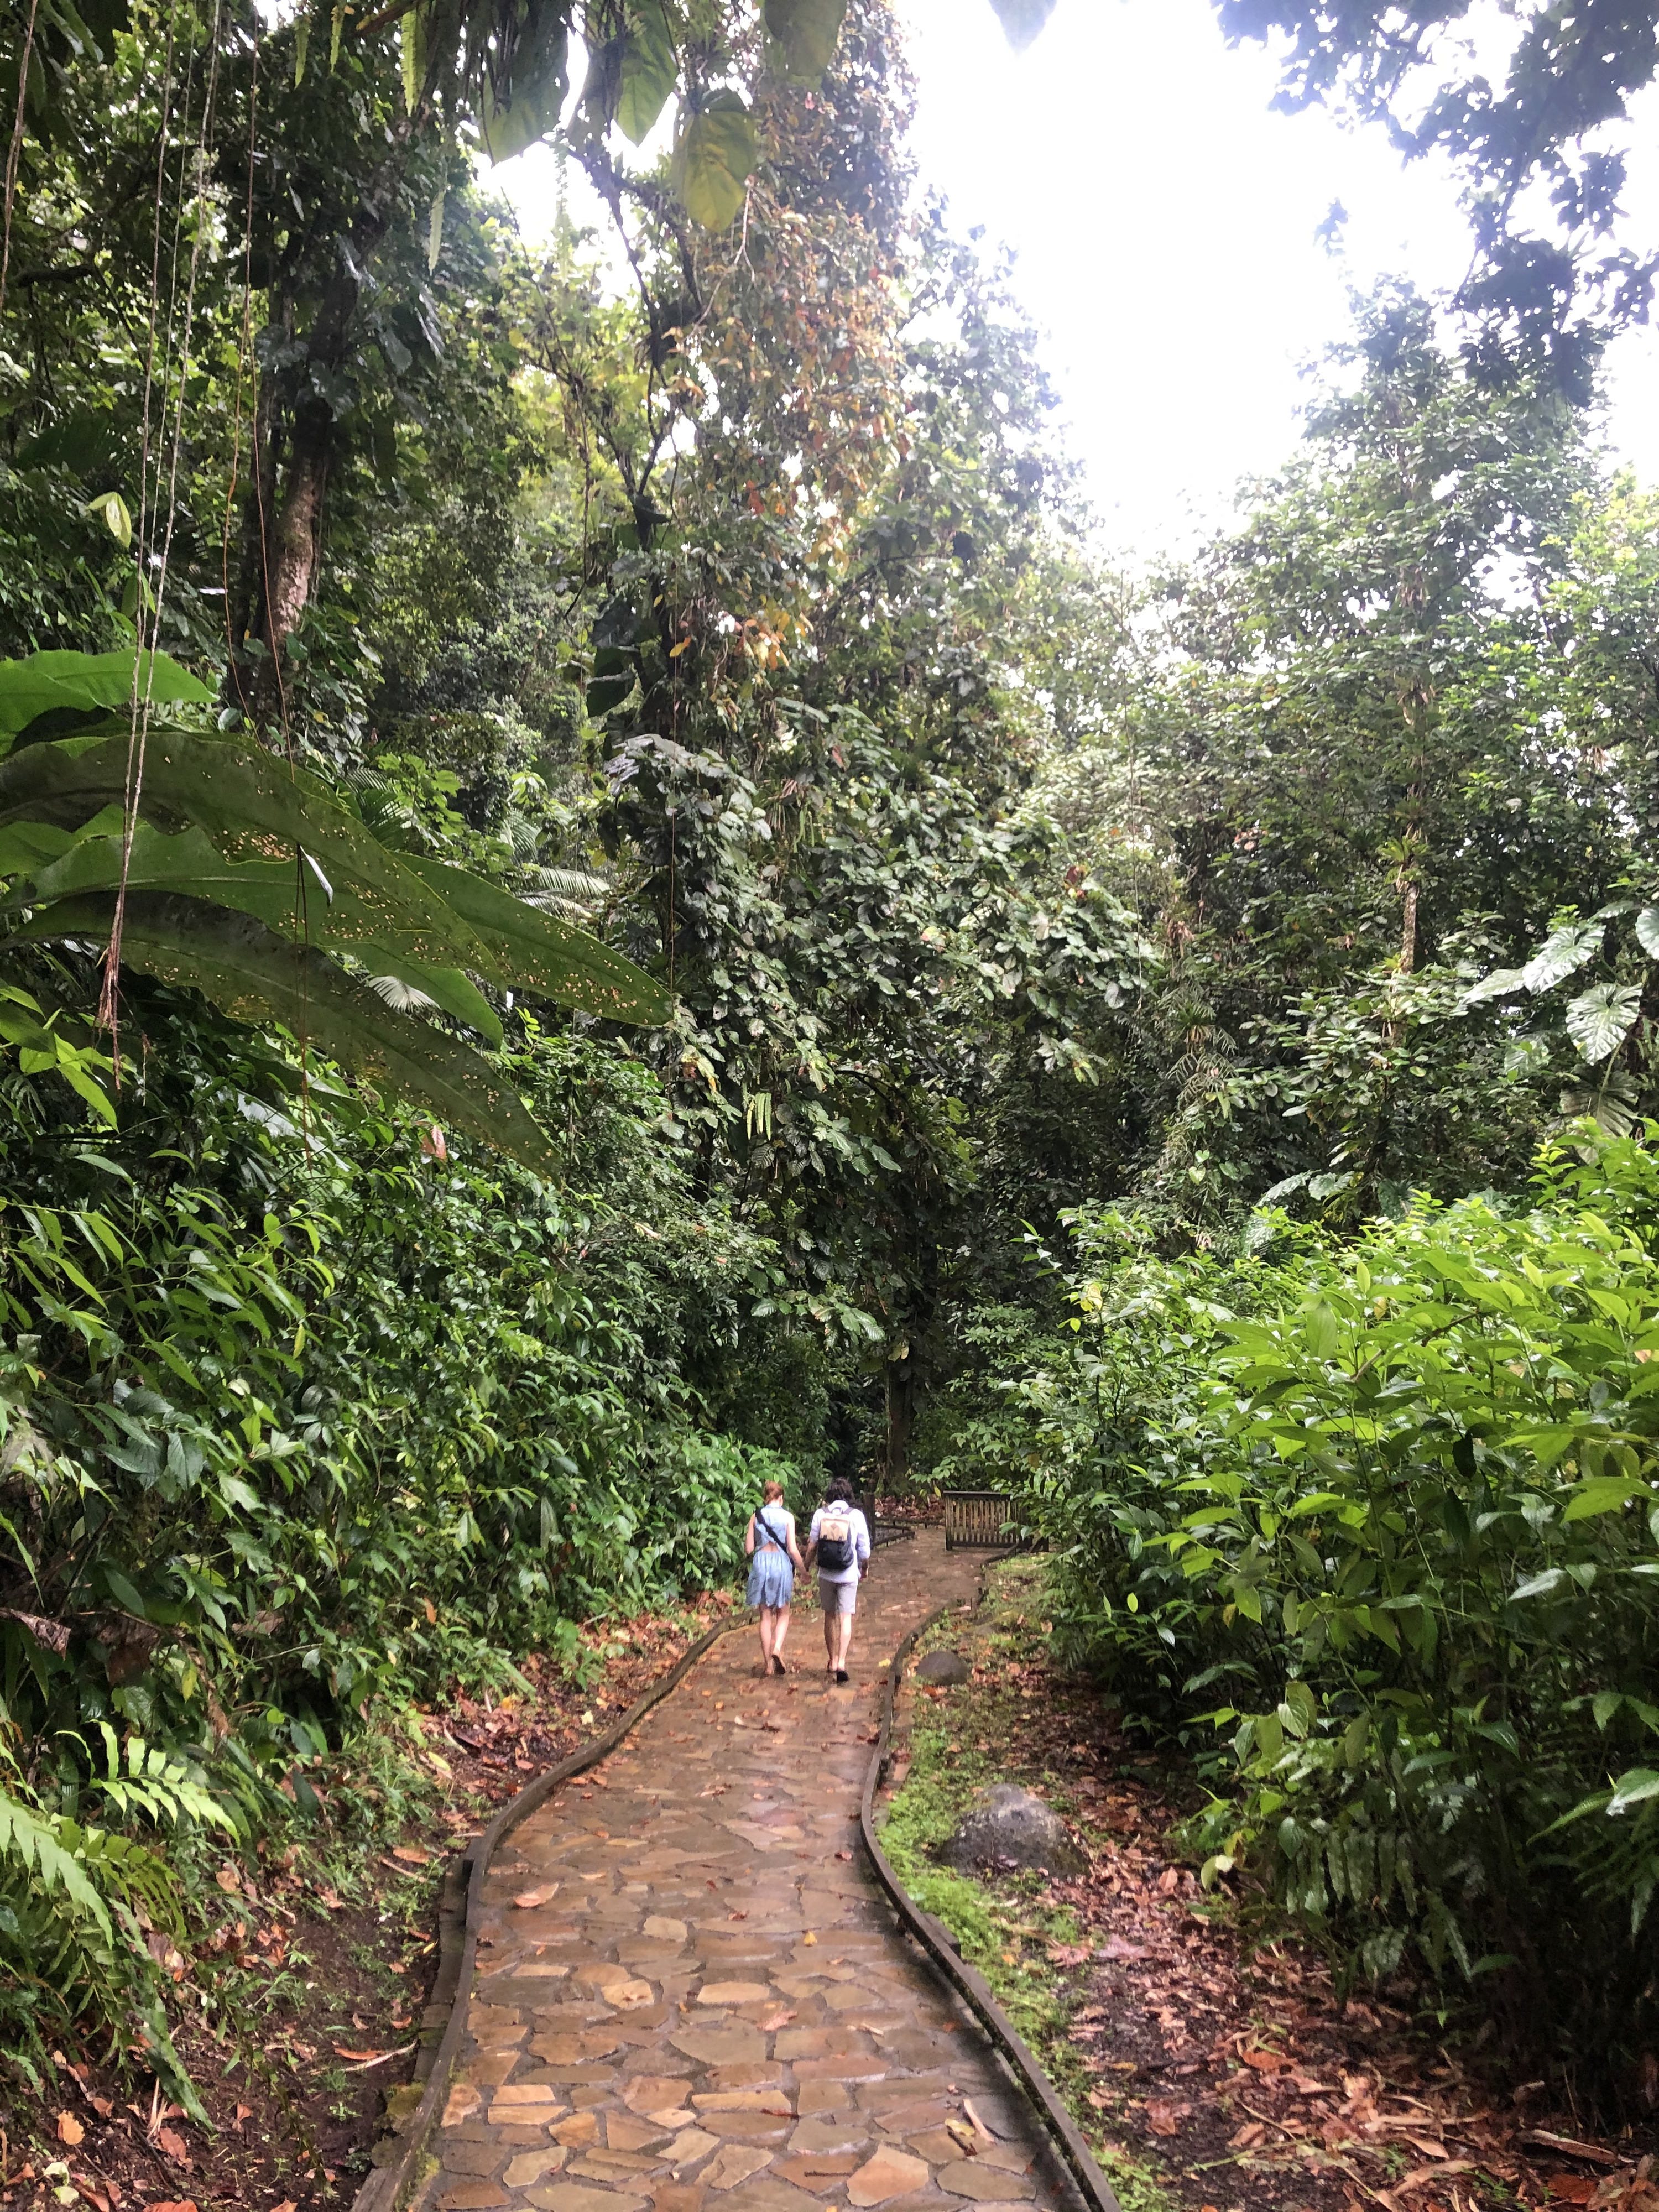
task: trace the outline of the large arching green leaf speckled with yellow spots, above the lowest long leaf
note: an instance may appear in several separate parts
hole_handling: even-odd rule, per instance
[[[55,823],[77,830],[106,805],[122,805],[126,792],[126,739],[95,739],[27,745],[0,763],[0,827],[9,823]],[[144,812],[173,816],[179,827],[206,830],[219,856],[232,865],[263,867],[265,887],[239,878],[243,896],[226,889],[226,905],[257,911],[272,927],[292,927],[296,907],[294,847],[303,845],[334,887],[334,902],[358,902],[372,922],[365,936],[396,942],[411,960],[440,967],[473,967],[489,973],[491,960],[473,931],[458,920],[442,896],[367,830],[314,779],[257,745],[197,739],[181,730],[153,730],[144,757]],[[95,865],[88,856],[88,867]],[[119,880],[119,878],[108,878]],[[312,876],[316,885],[316,878]],[[257,902],[279,896],[285,885],[290,922]],[[155,889],[199,889],[159,878]],[[316,885],[319,902],[325,902]],[[307,896],[310,905],[310,896]],[[343,914],[341,942],[349,942]]]

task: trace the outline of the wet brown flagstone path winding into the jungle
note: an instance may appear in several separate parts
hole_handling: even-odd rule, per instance
[[[723,1637],[500,1858],[427,2203],[445,2212],[1011,2212],[1075,2203],[858,1847],[880,1677],[980,1573],[883,1546],[852,1686],[796,1615],[787,1679]]]

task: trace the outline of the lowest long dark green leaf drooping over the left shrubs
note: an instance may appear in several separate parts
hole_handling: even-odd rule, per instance
[[[75,898],[35,914],[29,938],[108,938],[115,900]],[[281,1022],[294,1037],[376,1088],[427,1106],[462,1130],[549,1172],[553,1150],[518,1093],[471,1046],[387,1006],[314,945],[290,945],[250,914],[201,898],[128,894],[122,960],[159,982],[190,984],[234,1022]]]

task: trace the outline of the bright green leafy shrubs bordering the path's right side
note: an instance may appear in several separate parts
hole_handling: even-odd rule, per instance
[[[1259,1869],[1608,2101],[1659,2048],[1657,1137],[1579,1124],[1531,1206],[1343,1248],[1084,1219],[1075,1358],[1020,1389],[1064,1632],[1225,1736],[1206,1880]]]

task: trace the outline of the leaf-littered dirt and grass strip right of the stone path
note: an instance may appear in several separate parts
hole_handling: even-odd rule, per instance
[[[1588,2135],[1542,2084],[1482,2073],[1402,2006],[1338,2002],[1321,1955],[1252,1944],[1237,1902],[1201,1896],[1172,1834],[1188,1809],[1179,1776],[1051,1663],[1040,1562],[998,1568],[973,1621],[929,1644],[962,1652],[973,1677],[907,1692],[894,1783],[907,1787],[914,1761],[911,1787],[962,1803],[1018,1781],[1068,1816],[1086,1871],[987,1876],[1006,1940],[982,1964],[1042,2024],[1044,2062],[1126,2203],[1659,2212],[1659,2135]]]

